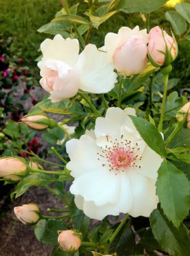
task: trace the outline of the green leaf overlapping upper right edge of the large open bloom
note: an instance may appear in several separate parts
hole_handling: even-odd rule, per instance
[[[151,122],[138,118],[136,116],[130,116],[140,136],[145,140],[145,143],[153,149],[160,156],[166,155],[165,142],[158,129]]]

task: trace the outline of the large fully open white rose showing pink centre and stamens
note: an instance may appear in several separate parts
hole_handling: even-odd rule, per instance
[[[129,213],[145,216],[158,203],[156,178],[162,158],[147,146],[128,115],[135,110],[107,109],[94,131],[67,142],[67,169],[76,206],[92,218]]]

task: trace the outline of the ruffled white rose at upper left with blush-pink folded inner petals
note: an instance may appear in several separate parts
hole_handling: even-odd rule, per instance
[[[40,84],[50,93],[52,102],[59,102],[76,95],[78,89],[89,93],[107,93],[114,88],[116,73],[108,61],[107,53],[88,44],[79,54],[78,39],[45,39],[41,44],[43,58]]]

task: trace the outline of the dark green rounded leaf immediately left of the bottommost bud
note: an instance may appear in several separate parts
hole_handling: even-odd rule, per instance
[[[36,239],[43,244],[49,244],[50,246],[56,246],[58,244],[58,231],[67,230],[67,228],[56,219],[41,219],[36,223],[34,228],[34,234]]]

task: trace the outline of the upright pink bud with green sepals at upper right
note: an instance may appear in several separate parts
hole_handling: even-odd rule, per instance
[[[158,26],[149,32],[149,59],[154,66],[168,65],[178,55],[178,45],[175,37],[170,37],[165,30]]]

